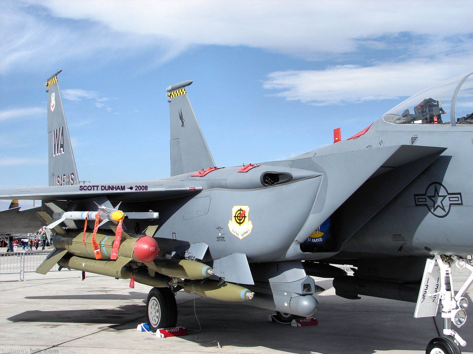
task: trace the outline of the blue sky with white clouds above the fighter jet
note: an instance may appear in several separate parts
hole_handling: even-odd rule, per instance
[[[473,1],[0,1],[0,189],[47,185],[44,83],[58,70],[79,179],[159,179],[166,86],[194,81],[218,166],[285,159],[472,71],[472,13]]]

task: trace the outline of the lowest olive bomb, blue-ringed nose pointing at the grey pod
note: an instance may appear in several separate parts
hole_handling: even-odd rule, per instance
[[[210,299],[221,301],[246,301],[253,299],[254,292],[232,283],[219,285],[218,281],[192,282],[183,286],[186,293],[194,293]]]

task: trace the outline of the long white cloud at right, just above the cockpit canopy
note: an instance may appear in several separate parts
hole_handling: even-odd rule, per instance
[[[473,53],[379,63],[342,65],[325,70],[287,70],[268,74],[263,87],[289,101],[315,105],[398,99],[472,69]]]

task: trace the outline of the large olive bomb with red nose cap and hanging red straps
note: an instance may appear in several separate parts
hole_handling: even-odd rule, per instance
[[[125,235],[125,239],[120,243],[118,256],[131,258],[133,261],[139,262],[150,262],[158,256],[158,243],[153,237],[141,236],[140,238],[132,238],[125,233],[123,235]],[[95,238],[101,251],[102,260],[110,259],[114,237],[110,233],[96,233]],[[53,237],[53,244],[57,249],[67,250],[69,253],[80,257],[95,258],[91,232],[86,232],[84,241],[85,244],[82,242],[82,232],[74,238],[57,234]]]

